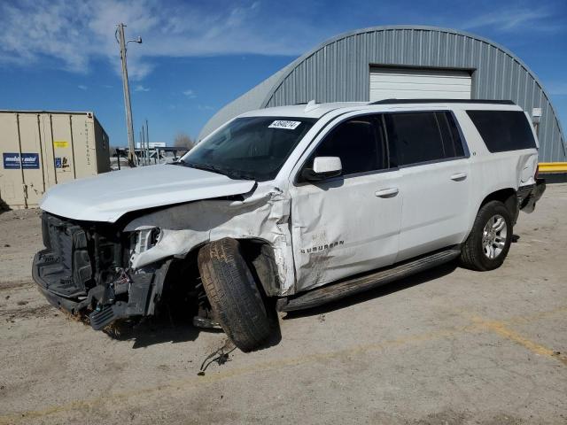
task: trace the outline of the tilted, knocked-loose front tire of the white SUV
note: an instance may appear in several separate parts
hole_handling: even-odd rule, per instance
[[[216,319],[243,352],[252,352],[271,334],[271,321],[240,243],[231,238],[198,251],[198,269]]]

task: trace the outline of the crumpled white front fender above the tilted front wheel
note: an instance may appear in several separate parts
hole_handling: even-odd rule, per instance
[[[276,260],[279,285],[264,288],[268,295],[294,292],[292,264],[290,198],[280,189],[259,186],[244,201],[210,199],[175,205],[148,213],[128,223],[125,231],[147,227],[160,228],[158,243],[132,256],[133,268],[144,267],[161,259],[180,256],[192,249],[223,237],[261,239],[270,244]]]

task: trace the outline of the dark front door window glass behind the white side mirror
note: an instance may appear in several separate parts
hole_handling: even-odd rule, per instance
[[[365,173],[386,168],[387,153],[379,115],[365,115],[346,120],[330,131],[307,161],[315,157],[338,157],[343,175]]]

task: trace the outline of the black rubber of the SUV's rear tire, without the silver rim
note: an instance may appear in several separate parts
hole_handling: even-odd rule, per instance
[[[506,240],[504,241],[501,252],[495,258],[490,259],[485,254],[485,248],[483,247],[483,232],[488,220],[491,220],[495,215],[500,215],[506,223]],[[462,245],[460,258],[462,267],[482,272],[501,267],[504,259],[506,259],[508,255],[512,235],[512,217],[506,205],[502,204],[500,201],[490,201],[482,205],[478,210],[477,218],[472,226],[470,235]]]

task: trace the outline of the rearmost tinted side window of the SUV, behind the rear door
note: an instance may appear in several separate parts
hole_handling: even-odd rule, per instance
[[[467,111],[491,152],[535,148],[532,128],[521,111]]]

